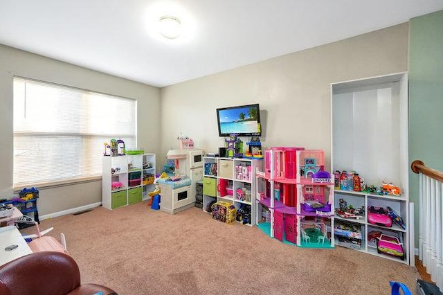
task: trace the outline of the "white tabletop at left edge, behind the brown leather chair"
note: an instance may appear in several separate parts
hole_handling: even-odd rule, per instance
[[[6,251],[5,248],[17,244],[19,247]],[[0,227],[0,265],[4,265],[6,262],[15,260],[21,256],[33,253],[28,243],[21,236],[21,233],[15,226]]]

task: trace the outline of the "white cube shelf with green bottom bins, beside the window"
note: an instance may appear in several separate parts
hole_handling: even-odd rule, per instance
[[[115,209],[148,199],[154,190],[155,154],[104,156],[102,206]]]

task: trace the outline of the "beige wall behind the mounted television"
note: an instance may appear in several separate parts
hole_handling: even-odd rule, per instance
[[[215,109],[259,102],[264,147],[322,149],[329,163],[329,83],[407,69],[408,24],[400,24],[165,87],[162,154],[157,159],[162,161],[168,149],[178,147],[181,132],[193,138],[196,147],[217,152],[224,139],[218,136]]]

